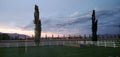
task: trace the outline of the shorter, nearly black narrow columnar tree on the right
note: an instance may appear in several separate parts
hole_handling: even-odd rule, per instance
[[[92,13],[92,41],[97,41],[97,23],[98,20],[95,16],[95,10]]]

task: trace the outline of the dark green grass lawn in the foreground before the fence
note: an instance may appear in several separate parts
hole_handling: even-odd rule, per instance
[[[120,48],[41,46],[0,48],[0,57],[109,57],[120,56]]]

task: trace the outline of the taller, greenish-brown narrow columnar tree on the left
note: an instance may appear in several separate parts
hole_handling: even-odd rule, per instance
[[[36,46],[39,46],[41,38],[41,20],[39,19],[39,9],[37,5],[35,5],[34,24],[35,24],[35,44]]]

